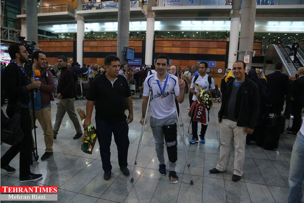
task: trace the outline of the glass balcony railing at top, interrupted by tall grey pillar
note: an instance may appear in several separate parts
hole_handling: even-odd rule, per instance
[[[130,8],[142,8],[142,2],[138,0],[130,1]],[[118,8],[118,2],[116,1],[101,1],[98,3],[83,3],[81,4],[81,10],[98,10],[98,9],[113,9]]]

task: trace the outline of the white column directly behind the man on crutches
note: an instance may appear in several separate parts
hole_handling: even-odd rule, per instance
[[[149,14],[153,14],[152,12]],[[152,65],[153,57],[153,40],[154,40],[154,17],[153,15],[147,18],[147,33],[146,33],[146,51],[145,51],[145,64]]]

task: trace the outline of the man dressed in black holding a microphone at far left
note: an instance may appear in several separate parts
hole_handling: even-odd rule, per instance
[[[16,110],[20,112],[20,124],[24,138],[20,143],[11,146],[1,157],[1,169],[4,169],[8,173],[15,172],[16,169],[9,166],[9,162],[20,152],[20,182],[38,180],[42,178],[42,175],[32,174],[29,166],[32,149],[32,132],[28,91],[39,88],[41,82],[34,81],[33,79],[28,82],[23,64],[28,62],[29,54],[23,44],[11,44],[8,48],[8,53],[12,60],[3,71],[3,84],[8,98],[6,113],[9,118],[12,118]]]

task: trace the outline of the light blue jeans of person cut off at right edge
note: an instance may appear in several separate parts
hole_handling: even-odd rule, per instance
[[[292,148],[289,170],[288,203],[302,203],[304,182],[304,136],[299,132]]]

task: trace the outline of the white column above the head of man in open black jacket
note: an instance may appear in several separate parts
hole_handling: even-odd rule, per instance
[[[230,36],[229,36],[229,53],[228,53],[228,66],[227,68],[232,69],[233,63],[236,61],[239,42],[239,31],[240,31],[240,17],[231,18],[230,23]],[[234,55],[235,54],[235,55]]]

